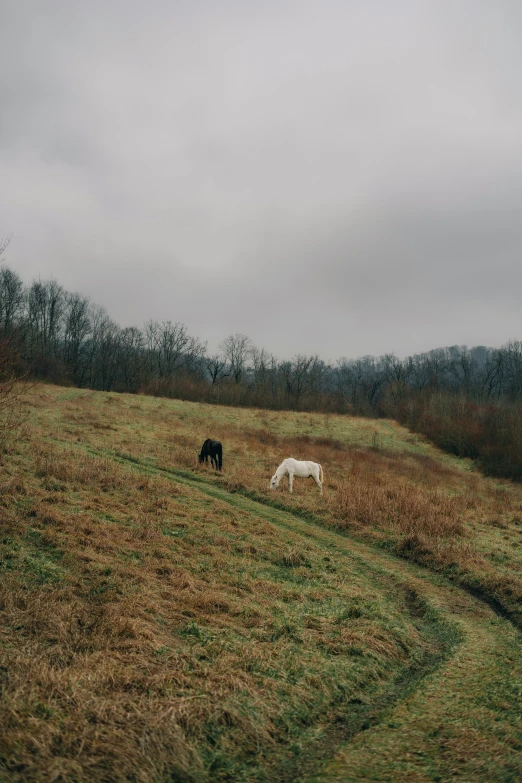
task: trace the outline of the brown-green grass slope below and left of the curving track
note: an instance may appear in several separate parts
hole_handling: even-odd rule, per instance
[[[11,469],[0,506],[10,781],[254,775],[306,731],[303,716],[306,727],[335,714],[422,644],[387,599],[374,597],[377,618],[366,612],[375,591],[350,563],[325,571],[319,544],[266,520],[40,438]],[[353,599],[350,644],[364,655],[340,654],[336,618]]]

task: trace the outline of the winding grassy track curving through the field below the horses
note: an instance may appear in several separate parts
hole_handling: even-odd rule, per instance
[[[70,443],[67,443],[70,446]],[[157,466],[110,450],[78,445],[98,457],[161,475],[243,509],[271,524],[320,542],[332,554],[371,570],[381,589],[404,590],[457,629],[445,653],[401,698],[376,707],[344,737],[324,740],[323,752],[305,764],[302,783],[341,781],[522,780],[522,635],[484,601],[444,578],[382,550],[274,508],[231,493],[187,471]],[[518,671],[518,675],[516,672]],[[310,774],[310,767],[314,770]]]

